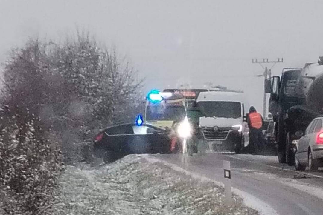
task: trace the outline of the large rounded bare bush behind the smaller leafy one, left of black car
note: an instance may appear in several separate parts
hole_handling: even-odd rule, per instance
[[[82,160],[80,148],[99,129],[134,120],[141,99],[135,74],[89,34],[63,44],[32,40],[5,64],[4,103],[20,116],[28,110],[39,117],[37,126],[61,143],[64,161],[73,163]]]

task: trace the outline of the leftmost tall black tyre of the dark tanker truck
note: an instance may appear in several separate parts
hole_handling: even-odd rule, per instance
[[[284,119],[279,116],[277,119],[277,157],[279,163],[286,163],[286,135],[284,128]]]

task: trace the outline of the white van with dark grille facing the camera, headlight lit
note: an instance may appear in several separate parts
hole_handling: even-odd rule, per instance
[[[202,114],[199,127],[210,150],[221,148],[239,153],[249,144],[249,128],[245,122],[249,104],[244,93],[202,92],[197,105]]]

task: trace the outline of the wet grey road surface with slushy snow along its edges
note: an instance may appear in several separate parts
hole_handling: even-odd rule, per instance
[[[293,167],[279,164],[276,156],[222,153],[194,154],[186,159],[174,154],[150,156],[222,183],[223,160],[230,161],[233,188],[267,203],[277,214],[323,214],[323,171],[294,171]]]

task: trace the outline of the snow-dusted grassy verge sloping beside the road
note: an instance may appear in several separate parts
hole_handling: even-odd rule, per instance
[[[258,214],[237,196],[228,208],[223,188],[140,155],[97,167],[67,166],[59,185],[54,215]]]

